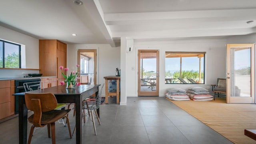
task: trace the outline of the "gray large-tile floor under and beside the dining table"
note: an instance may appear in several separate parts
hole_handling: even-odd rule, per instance
[[[115,102],[110,98],[109,104],[100,106],[97,136],[92,121],[86,118],[82,123],[83,144],[232,144],[163,97],[128,97],[126,106]],[[69,118],[73,130],[72,111]],[[75,143],[67,126],[56,123],[56,144]],[[18,117],[0,123],[0,144],[18,144]],[[51,144],[46,127],[36,130],[32,144]]]

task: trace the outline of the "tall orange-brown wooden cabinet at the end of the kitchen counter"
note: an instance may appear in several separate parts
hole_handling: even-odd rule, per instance
[[[67,44],[59,40],[39,40],[39,69],[43,76],[56,76],[55,85],[63,79],[60,66],[67,66]],[[66,74],[66,72],[64,72]]]

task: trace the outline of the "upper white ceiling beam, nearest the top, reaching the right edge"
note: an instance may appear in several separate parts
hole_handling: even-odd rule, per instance
[[[104,20],[108,22],[108,21],[129,21],[129,20],[183,19],[183,18],[223,18],[223,17],[255,16],[255,13],[256,13],[256,9],[117,13],[117,14],[105,14]]]

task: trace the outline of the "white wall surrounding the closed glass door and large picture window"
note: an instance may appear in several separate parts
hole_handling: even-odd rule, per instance
[[[183,40],[183,41],[156,41],[156,42],[134,42],[134,50],[127,52],[127,96],[138,96],[138,50],[152,49],[159,51],[159,96],[164,96],[168,88],[187,89],[193,86],[201,86],[209,91],[210,84],[216,84],[217,78],[226,77],[226,39],[209,40]],[[205,84],[164,84],[165,80],[165,52],[206,52]],[[131,69],[135,67],[135,71]]]

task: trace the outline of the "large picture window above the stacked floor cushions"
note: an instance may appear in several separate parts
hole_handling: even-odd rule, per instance
[[[165,84],[204,84],[205,52],[165,52]]]

